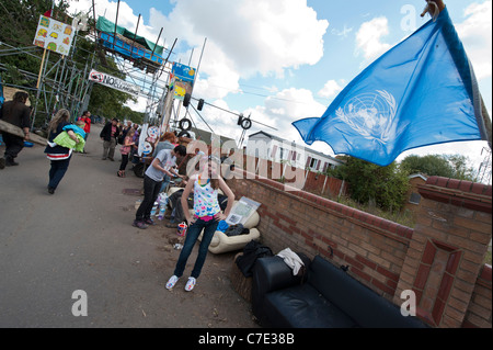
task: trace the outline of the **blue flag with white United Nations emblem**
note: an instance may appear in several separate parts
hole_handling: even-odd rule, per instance
[[[322,117],[293,123],[303,140],[388,166],[404,150],[486,140],[481,95],[447,9],[359,74]]]

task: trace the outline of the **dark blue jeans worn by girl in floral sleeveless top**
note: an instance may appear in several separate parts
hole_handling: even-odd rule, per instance
[[[198,247],[198,256],[195,261],[194,269],[192,270],[192,276],[197,279],[200,275],[202,268],[204,267],[204,262],[207,257],[207,250],[209,248],[210,241],[213,240],[214,234],[216,233],[218,221],[211,219],[205,222],[200,218],[188,227],[188,232],[186,233],[185,242],[183,244],[182,252],[180,253],[180,258],[176,262],[176,268],[174,270],[174,275],[181,278],[183,275],[183,271],[186,267],[186,261],[188,260],[190,255],[192,253],[192,249],[195,246],[195,242],[200,236],[202,230],[204,229],[204,235],[202,237],[200,245]]]

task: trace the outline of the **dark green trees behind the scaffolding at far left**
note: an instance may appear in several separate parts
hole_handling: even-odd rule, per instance
[[[33,38],[36,32],[39,15],[51,9],[51,0],[1,0],[0,2],[0,42],[5,43],[12,47],[33,47]],[[51,18],[64,23],[71,23],[72,19],[67,13],[68,1],[60,0],[55,2],[54,12]],[[89,23],[93,23],[91,19]],[[89,32],[80,31],[78,33],[76,46],[72,48],[70,65],[74,65],[77,68],[77,77],[73,81],[81,83],[84,77],[84,68],[88,63],[91,61],[93,53],[98,49],[98,45],[94,41],[88,39]],[[117,66],[112,57],[105,57],[103,50],[98,52],[99,55],[94,56],[95,68],[100,71],[107,72],[114,77],[125,80],[125,75],[117,69]],[[30,100],[35,100],[37,75],[39,72],[42,61],[43,49],[35,47],[35,49],[28,49],[28,54],[25,50],[19,50],[15,54],[9,56],[2,56],[0,61],[0,72],[2,80],[7,84],[13,84],[18,87],[25,87],[31,91]],[[59,59],[58,54],[46,55],[47,78],[55,79],[56,69],[50,69]],[[72,67],[72,66],[70,66]],[[26,74],[28,72],[28,74]],[[73,90],[77,83],[73,83]],[[50,110],[47,115],[43,115],[45,105],[49,108],[50,102],[55,104],[54,94],[59,93],[58,88],[55,84],[45,83],[44,89],[47,93],[42,93],[36,102],[38,106],[36,114],[42,114],[47,120],[50,117]],[[68,89],[62,90],[62,93],[70,95],[72,91]],[[80,93],[74,94],[77,103],[73,106],[73,117],[80,115],[79,110],[82,105],[82,101],[79,100]],[[47,99],[48,101],[45,101]],[[128,100],[134,100],[129,94],[121,92],[111,88],[106,88],[101,84],[94,83],[92,88],[91,98],[88,109],[93,111],[94,114],[101,114],[106,118],[118,117],[123,118],[123,113],[130,114],[124,110],[124,104]],[[69,105],[62,105],[62,102],[57,104],[57,109],[67,108]],[[70,103],[70,106],[72,104]],[[45,113],[46,114],[46,113]],[[39,115],[37,115],[39,116]],[[134,120],[139,121],[139,114],[133,114]],[[36,117],[36,122],[43,122],[44,117]]]

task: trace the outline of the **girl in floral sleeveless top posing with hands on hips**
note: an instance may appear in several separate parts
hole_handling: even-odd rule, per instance
[[[207,257],[207,250],[210,241],[213,240],[217,225],[221,219],[225,219],[231,211],[234,202],[234,194],[226,184],[225,180],[219,176],[219,159],[211,159],[211,157],[204,157],[200,159],[200,168],[198,173],[191,177],[185,190],[183,191],[182,207],[188,207],[186,199],[188,197],[192,189],[194,191],[194,216],[191,217],[190,212],[184,211],[188,223],[188,232],[186,234],[180,258],[176,262],[174,274],[167,283],[167,289],[169,290],[171,290],[176,284],[177,280],[183,275],[186,261],[188,260],[198,236],[204,229],[204,235],[198,248],[197,260],[195,261],[194,269],[186,283],[185,291],[190,292],[194,289],[196,279],[199,276]],[[221,189],[228,196],[228,205],[225,213],[221,213],[217,200],[218,189]]]

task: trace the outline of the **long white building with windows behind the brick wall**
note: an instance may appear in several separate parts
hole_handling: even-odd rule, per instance
[[[344,163],[334,157],[296,145],[294,142],[265,132],[249,136],[246,155],[275,162],[288,162],[293,167],[309,169],[314,172],[325,172],[330,168]]]

